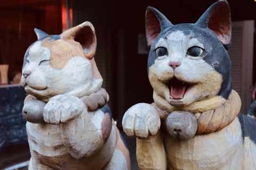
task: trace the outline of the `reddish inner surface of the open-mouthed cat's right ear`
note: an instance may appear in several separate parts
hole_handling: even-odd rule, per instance
[[[231,17],[227,3],[223,2],[211,13],[208,28],[213,30],[223,44],[229,44],[231,38]]]

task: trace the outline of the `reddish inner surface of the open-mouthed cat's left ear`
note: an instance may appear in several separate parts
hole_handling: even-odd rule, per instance
[[[148,8],[146,14],[146,37],[148,44],[151,46],[161,32],[161,25],[156,14]]]

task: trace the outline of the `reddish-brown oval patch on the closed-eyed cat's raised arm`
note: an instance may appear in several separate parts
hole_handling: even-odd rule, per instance
[[[107,142],[112,129],[112,120],[110,119],[110,116],[108,113],[105,113],[103,121],[101,122],[101,127],[102,127],[103,140],[104,142]]]

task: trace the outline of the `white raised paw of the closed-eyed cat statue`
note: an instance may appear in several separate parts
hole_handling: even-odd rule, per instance
[[[79,98],[69,95],[52,97],[43,109],[44,121],[51,124],[65,123],[85,111]]]

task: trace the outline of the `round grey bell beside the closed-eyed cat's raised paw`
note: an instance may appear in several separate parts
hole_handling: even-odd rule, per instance
[[[23,117],[31,123],[43,123],[43,108],[45,104],[41,100],[29,100],[22,108]]]

